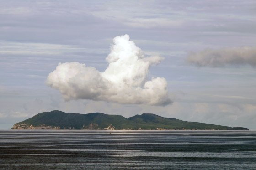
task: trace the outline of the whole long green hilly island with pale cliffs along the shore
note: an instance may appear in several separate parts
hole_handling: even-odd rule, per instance
[[[164,118],[143,113],[130,118],[104,113],[65,113],[59,110],[38,113],[32,118],[16,123],[11,129],[80,129],[80,130],[249,130],[176,118]]]

